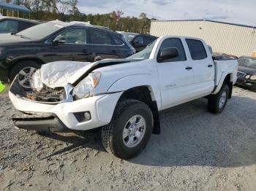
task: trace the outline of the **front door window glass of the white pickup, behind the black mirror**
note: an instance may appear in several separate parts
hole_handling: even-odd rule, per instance
[[[170,58],[170,59],[166,60],[165,62],[186,61],[187,60],[181,39],[176,39],[176,38],[165,39],[165,41],[162,42],[162,44],[161,44],[158,55],[160,54],[160,52],[163,49],[170,48],[170,47],[174,47],[178,50],[178,57]]]

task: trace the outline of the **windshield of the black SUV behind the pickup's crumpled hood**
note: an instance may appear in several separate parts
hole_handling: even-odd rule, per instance
[[[37,26],[32,26],[31,28],[27,28],[26,30],[21,31],[16,35],[24,36],[28,39],[43,39],[46,36],[49,36],[56,31],[59,31],[59,29],[61,28],[63,28],[63,26],[57,23],[48,22],[42,23]]]

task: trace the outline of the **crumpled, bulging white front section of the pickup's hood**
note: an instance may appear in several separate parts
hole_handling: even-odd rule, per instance
[[[46,63],[40,69],[41,81],[44,85],[54,87],[64,87],[68,83],[74,83],[78,77],[83,75],[92,63],[58,61]]]

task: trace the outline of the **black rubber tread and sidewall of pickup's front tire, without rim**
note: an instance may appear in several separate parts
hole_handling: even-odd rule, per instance
[[[131,117],[138,114],[145,119],[146,131],[138,145],[132,148],[127,147],[123,140],[124,127]],[[132,99],[119,101],[110,124],[102,128],[102,144],[110,154],[127,160],[142,152],[150,139],[152,130],[153,115],[146,104]]]

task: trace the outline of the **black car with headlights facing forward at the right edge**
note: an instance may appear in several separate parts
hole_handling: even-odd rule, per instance
[[[238,59],[238,85],[256,90],[256,58],[243,56]]]

